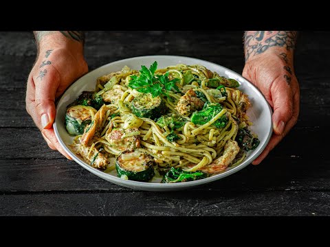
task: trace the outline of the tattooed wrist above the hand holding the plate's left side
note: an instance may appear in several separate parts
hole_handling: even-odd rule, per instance
[[[85,34],[82,31],[34,31],[38,53],[67,49],[75,56],[83,56]]]

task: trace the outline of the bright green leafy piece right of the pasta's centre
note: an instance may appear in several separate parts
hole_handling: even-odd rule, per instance
[[[218,113],[220,113],[222,109],[223,107],[219,103],[206,102],[202,110],[192,113],[191,121],[193,124],[200,124],[200,125],[206,124]],[[229,121],[228,117],[226,115],[222,115],[212,125],[214,125],[217,128],[223,128],[228,124],[228,121]]]

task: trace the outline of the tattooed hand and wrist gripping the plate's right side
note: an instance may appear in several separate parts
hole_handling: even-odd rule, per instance
[[[273,109],[273,135],[252,162],[258,165],[296,124],[299,84],[294,73],[295,31],[246,31],[243,77],[254,83]]]

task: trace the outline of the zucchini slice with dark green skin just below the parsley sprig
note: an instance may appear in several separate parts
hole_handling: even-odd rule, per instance
[[[132,112],[137,117],[155,119],[166,113],[166,107],[162,98],[153,97],[151,93],[141,93],[132,100]]]

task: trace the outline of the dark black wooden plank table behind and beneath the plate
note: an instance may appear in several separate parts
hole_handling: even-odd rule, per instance
[[[87,32],[89,69],[178,55],[243,69],[242,32]],[[25,111],[36,47],[0,33],[0,215],[330,215],[330,32],[300,32],[298,124],[261,163],[188,191],[133,191],[50,150]]]

